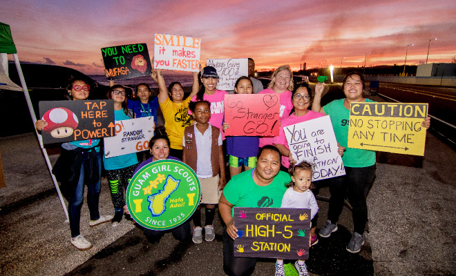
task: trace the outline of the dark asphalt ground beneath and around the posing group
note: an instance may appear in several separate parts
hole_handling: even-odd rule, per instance
[[[76,250],[35,135],[0,138],[0,151],[7,185],[0,189],[0,275],[224,275],[218,217],[213,242],[179,243],[167,234],[153,245],[125,219],[89,228],[84,204],[81,230],[94,246]],[[345,207],[339,230],[311,248],[310,274],[455,275],[455,151],[428,133],[424,157],[379,152],[377,161],[361,253],[345,250],[352,233]],[[327,202],[319,206],[317,228]],[[100,211],[113,213],[106,179]],[[274,260],[258,262],[254,275],[273,274]]]

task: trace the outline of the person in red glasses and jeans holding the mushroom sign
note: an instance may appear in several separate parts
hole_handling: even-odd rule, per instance
[[[68,85],[68,99],[77,101],[88,98],[90,86],[82,79],[73,79]],[[37,130],[43,130],[48,122],[40,119],[36,122]],[[68,217],[70,219],[70,242],[78,250],[92,248],[79,231],[84,186],[87,186],[87,205],[90,212],[89,226],[97,226],[111,221],[113,216],[99,215],[98,202],[100,192],[100,175],[102,170],[99,139],[73,141],[61,144],[61,155],[54,166],[53,174],[61,183],[61,190],[68,199]]]

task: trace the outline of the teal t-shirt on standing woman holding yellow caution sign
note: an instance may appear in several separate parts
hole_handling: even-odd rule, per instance
[[[351,168],[364,168],[375,164],[375,152],[372,150],[361,150],[358,148],[348,148],[348,126],[350,122],[350,110],[343,106],[345,99],[336,99],[331,101],[326,106],[323,106],[323,110],[327,115],[330,115],[332,128],[334,128],[334,134],[336,140],[341,146],[347,148],[343,152],[343,166]],[[365,101],[373,102],[370,99]]]

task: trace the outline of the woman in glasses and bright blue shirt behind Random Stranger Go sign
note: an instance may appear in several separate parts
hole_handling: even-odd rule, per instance
[[[128,108],[125,89],[124,86],[117,84],[111,86],[106,93],[108,99],[114,100],[115,121],[133,118],[133,114]],[[103,164],[106,170],[106,178],[111,188],[111,199],[115,210],[112,226],[115,227],[122,220],[124,210],[127,210],[124,193],[139,162],[137,161],[136,153],[129,153],[110,158],[103,156]]]

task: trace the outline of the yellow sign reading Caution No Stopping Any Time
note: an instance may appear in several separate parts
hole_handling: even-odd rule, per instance
[[[424,155],[428,103],[352,103],[348,147]]]

